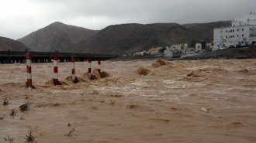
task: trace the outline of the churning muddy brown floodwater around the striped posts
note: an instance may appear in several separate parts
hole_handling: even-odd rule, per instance
[[[75,63],[78,83],[71,63],[58,63],[58,86],[53,63],[33,63],[33,90],[26,64],[0,64],[0,142],[25,142],[29,131],[38,143],[256,141],[256,60],[164,63],[103,61],[112,76],[97,80]]]

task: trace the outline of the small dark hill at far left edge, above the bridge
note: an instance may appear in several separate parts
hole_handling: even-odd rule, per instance
[[[8,51],[9,49],[12,51],[25,51],[25,49],[29,48],[19,41],[0,36],[0,51]]]

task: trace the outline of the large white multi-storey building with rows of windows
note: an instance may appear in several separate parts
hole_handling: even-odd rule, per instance
[[[232,26],[213,30],[213,50],[256,43],[256,15],[232,19]]]

